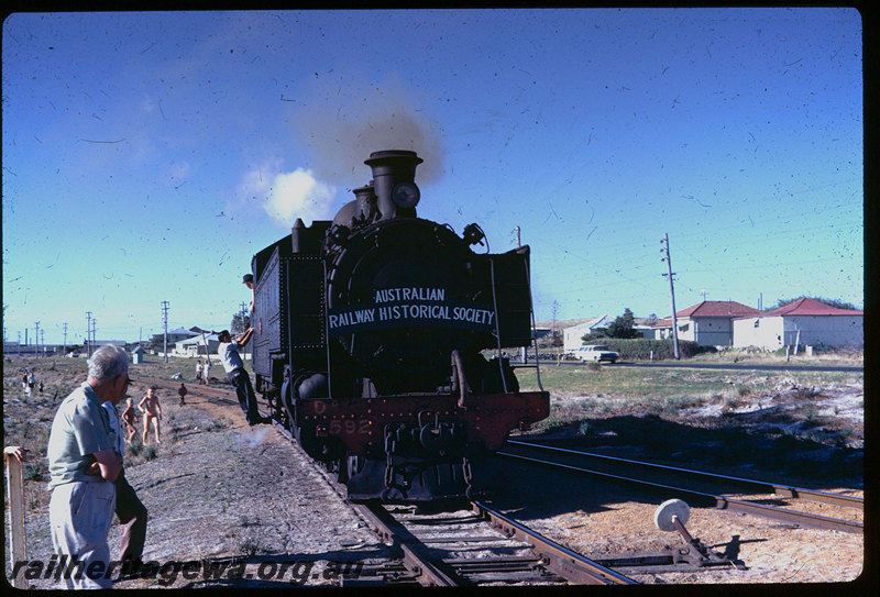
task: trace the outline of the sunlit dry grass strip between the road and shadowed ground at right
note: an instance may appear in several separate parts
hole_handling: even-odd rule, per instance
[[[776,364],[773,356],[757,355],[758,358],[765,364]],[[705,363],[705,360],[696,362],[701,361]],[[834,363],[839,366],[840,357]],[[534,372],[525,372],[517,373],[520,387],[537,389]],[[798,367],[776,372],[563,365],[541,367],[541,386],[550,391],[551,408],[550,417],[535,425],[539,433],[584,436],[595,427],[591,422],[597,419],[625,417],[658,417],[688,427],[723,424],[754,429],[755,421],[730,414],[762,410],[771,405],[779,407],[784,401],[784,424],[767,427],[767,433],[790,433],[825,445],[864,443],[864,419],[854,419],[850,413],[844,417],[844,406],[834,406],[837,399],[851,403],[854,393],[862,391],[862,373],[811,372]]]

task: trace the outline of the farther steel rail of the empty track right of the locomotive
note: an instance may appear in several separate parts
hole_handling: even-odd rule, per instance
[[[762,480],[756,479],[748,479],[743,477],[733,477],[728,475],[718,475],[715,473],[705,473],[703,471],[693,471],[690,468],[680,468],[676,466],[669,466],[664,464],[654,464],[650,462],[641,462],[641,461],[632,461],[628,458],[620,458],[618,456],[606,456],[604,454],[594,454],[591,452],[580,452],[578,450],[569,450],[565,447],[557,447],[553,445],[544,445],[531,442],[521,442],[517,440],[508,440],[508,444],[513,445],[522,445],[527,447],[534,447],[538,450],[547,450],[552,452],[565,453],[565,454],[574,454],[581,457],[590,457],[595,460],[602,460],[606,462],[615,462],[615,463],[623,463],[629,464],[632,466],[640,466],[644,468],[651,468],[654,471],[671,471],[674,473],[682,473],[690,476],[702,477],[705,479],[711,480],[721,480],[725,483],[734,483],[737,485],[746,486],[751,489],[758,489],[760,491],[770,490],[773,494],[778,494],[783,497],[791,497],[798,499],[804,499],[807,501],[815,501],[820,504],[828,504],[831,506],[840,506],[844,508],[855,508],[857,510],[865,509],[865,499],[855,496],[844,496],[840,494],[833,494],[829,491],[818,491],[815,489],[804,489],[802,487],[793,487],[791,485],[778,485],[774,483],[767,483]]]

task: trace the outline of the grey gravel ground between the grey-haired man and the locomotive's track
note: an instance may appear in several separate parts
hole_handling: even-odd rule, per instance
[[[168,565],[164,576],[121,581],[117,588],[338,584],[331,563],[370,564],[392,555],[272,425],[249,428],[238,405],[217,406],[199,396],[188,396],[187,406],[179,407],[170,394],[160,390],[164,429],[158,455],[125,473],[150,512],[144,560],[222,565],[243,559],[243,577],[227,578],[235,575],[230,566],[220,579],[207,582],[204,574],[185,578]],[[48,561],[52,554],[47,522],[46,507],[29,512],[31,560]],[[118,545],[114,524],[111,553]],[[261,578],[261,565],[262,575],[272,578]],[[54,583],[33,585],[51,588]]]

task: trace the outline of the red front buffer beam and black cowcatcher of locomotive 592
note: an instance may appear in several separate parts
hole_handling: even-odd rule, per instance
[[[338,463],[355,501],[479,497],[485,456],[548,413],[544,391],[470,395],[466,408],[451,395],[297,402],[300,444]]]

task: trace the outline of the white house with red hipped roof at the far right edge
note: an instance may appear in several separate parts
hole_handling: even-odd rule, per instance
[[[734,346],[776,350],[782,346],[861,346],[865,311],[838,309],[801,298],[766,313],[734,320]]]

